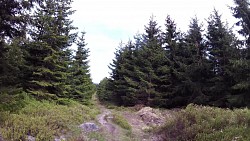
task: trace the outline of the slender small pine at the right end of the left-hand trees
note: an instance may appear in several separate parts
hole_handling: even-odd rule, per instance
[[[72,64],[72,92],[70,98],[89,104],[94,94],[94,84],[89,72],[89,49],[86,48],[85,32],[78,38],[77,51]]]

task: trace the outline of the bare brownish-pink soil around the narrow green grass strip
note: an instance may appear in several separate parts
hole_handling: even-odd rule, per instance
[[[124,108],[122,110],[107,109],[105,106],[98,104],[101,114],[98,116],[98,122],[101,124],[104,132],[108,133],[108,141],[123,141],[123,130],[112,122],[112,112],[122,115],[132,127],[130,140],[132,141],[163,141],[161,135],[156,134],[154,129],[164,125],[167,118],[172,118],[171,113],[160,111],[150,107],[131,110]]]

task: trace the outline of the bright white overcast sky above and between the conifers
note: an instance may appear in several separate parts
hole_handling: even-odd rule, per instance
[[[235,19],[228,6],[233,6],[233,0],[74,0],[72,9],[76,12],[71,18],[79,32],[86,32],[91,77],[99,83],[109,77],[108,65],[119,44],[144,33],[144,25],[152,15],[162,29],[170,15],[177,28],[185,32],[192,17],[196,15],[206,24],[215,8],[231,27]]]

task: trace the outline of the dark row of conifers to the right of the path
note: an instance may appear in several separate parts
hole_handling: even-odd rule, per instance
[[[145,33],[116,50],[111,76],[98,86],[100,100],[166,108],[189,103],[249,107],[250,6],[248,0],[234,2],[237,36],[217,10],[205,29],[193,18],[187,32],[179,31],[170,16],[164,30],[151,17]]]

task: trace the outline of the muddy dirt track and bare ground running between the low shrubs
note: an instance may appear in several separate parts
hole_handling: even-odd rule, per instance
[[[150,107],[108,109],[98,99],[95,99],[95,105],[100,110],[96,120],[100,124],[100,132],[105,141],[163,141],[159,135],[151,132],[154,130],[152,127],[156,127],[155,125],[158,124],[159,119],[166,117],[165,114],[162,115],[161,111]],[[124,117],[128,124],[131,125],[131,130],[125,130],[113,123],[113,114]],[[162,120],[165,121],[165,118]]]

